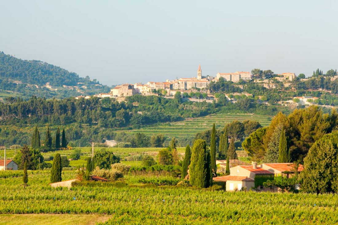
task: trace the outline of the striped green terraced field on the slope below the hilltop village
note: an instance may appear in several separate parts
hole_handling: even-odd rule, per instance
[[[189,119],[179,122],[163,123],[160,126],[146,126],[138,130],[129,130],[124,132],[145,133],[149,136],[153,134],[163,134],[166,137],[193,137],[197,132],[212,128],[215,123],[216,129],[222,129],[227,123],[234,120],[257,120],[262,126],[268,126],[271,121],[270,116],[253,114],[212,114],[196,119]]]

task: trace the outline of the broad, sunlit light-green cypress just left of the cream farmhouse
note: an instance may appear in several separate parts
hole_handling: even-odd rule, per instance
[[[195,187],[207,186],[206,169],[206,141],[197,139],[191,149],[191,163],[189,167],[190,184]]]

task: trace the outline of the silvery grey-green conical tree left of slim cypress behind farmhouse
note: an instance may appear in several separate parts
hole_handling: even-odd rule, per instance
[[[264,163],[278,163],[279,158],[279,142],[281,139],[281,133],[283,129],[283,124],[280,123],[274,129],[270,142],[268,144],[268,149],[266,150]]]

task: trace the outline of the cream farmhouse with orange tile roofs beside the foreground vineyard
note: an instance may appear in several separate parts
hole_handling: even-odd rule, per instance
[[[303,166],[297,168],[298,172],[303,171]],[[247,190],[256,189],[257,191],[279,191],[277,187],[264,187],[259,185],[255,187],[255,178],[263,178],[267,176],[284,176],[290,178],[294,175],[291,163],[263,163],[257,166],[256,162],[252,165],[238,165],[230,168],[230,175],[214,177],[214,182],[225,182],[226,191],[236,191],[245,188]]]

